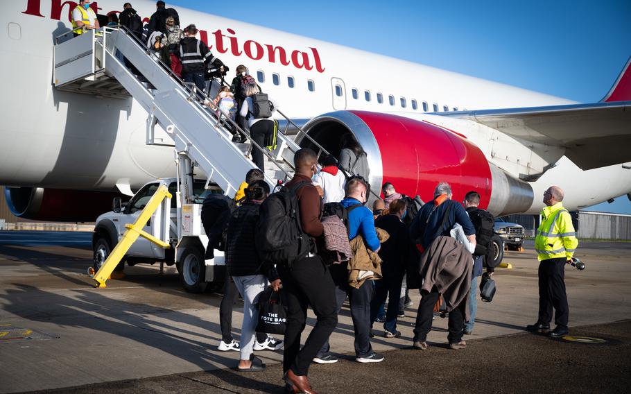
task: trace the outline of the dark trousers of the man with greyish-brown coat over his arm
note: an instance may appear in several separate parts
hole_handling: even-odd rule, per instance
[[[438,302],[438,291],[432,289],[430,293],[421,291],[421,302],[416,315],[416,327],[414,327],[414,340],[424,342],[427,334],[431,331],[432,318],[434,316],[434,305]],[[460,302],[458,307],[449,312],[449,322],[447,323],[447,341],[458,343],[463,339],[463,325],[465,324],[465,306],[467,298]]]

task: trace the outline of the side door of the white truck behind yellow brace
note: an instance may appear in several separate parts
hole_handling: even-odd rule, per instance
[[[138,191],[137,194],[130,200],[128,205],[125,207],[123,214],[120,216],[120,224],[119,224],[119,232],[122,237],[123,234],[127,231],[125,228],[126,224],[133,224],[140,216],[142,209],[144,209],[145,205],[149,202],[150,198],[153,197],[155,191],[157,191],[159,183],[151,183],[150,185],[145,185],[142,189]],[[151,229],[151,225],[155,221],[155,215],[151,216],[151,219],[147,222],[143,230],[148,232],[148,234],[153,234],[153,230]],[[144,237],[138,237],[138,239],[132,243],[131,248],[127,252],[130,256],[137,257],[155,257],[155,253],[153,251],[153,244]]]

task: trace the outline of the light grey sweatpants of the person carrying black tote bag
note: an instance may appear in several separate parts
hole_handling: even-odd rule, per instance
[[[243,324],[241,325],[241,359],[249,360],[254,347],[254,332],[259,323],[259,310],[257,302],[259,295],[267,287],[267,278],[264,275],[233,276],[234,285],[243,297]]]

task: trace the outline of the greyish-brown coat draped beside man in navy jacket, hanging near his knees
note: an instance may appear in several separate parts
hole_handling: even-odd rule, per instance
[[[442,294],[447,311],[465,302],[465,321],[469,320],[469,289],[473,270],[471,253],[451,237],[440,236],[421,256],[421,290],[435,286]]]

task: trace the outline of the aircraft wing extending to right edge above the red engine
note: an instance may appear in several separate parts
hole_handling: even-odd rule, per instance
[[[566,149],[583,170],[631,162],[631,101],[440,113]]]

